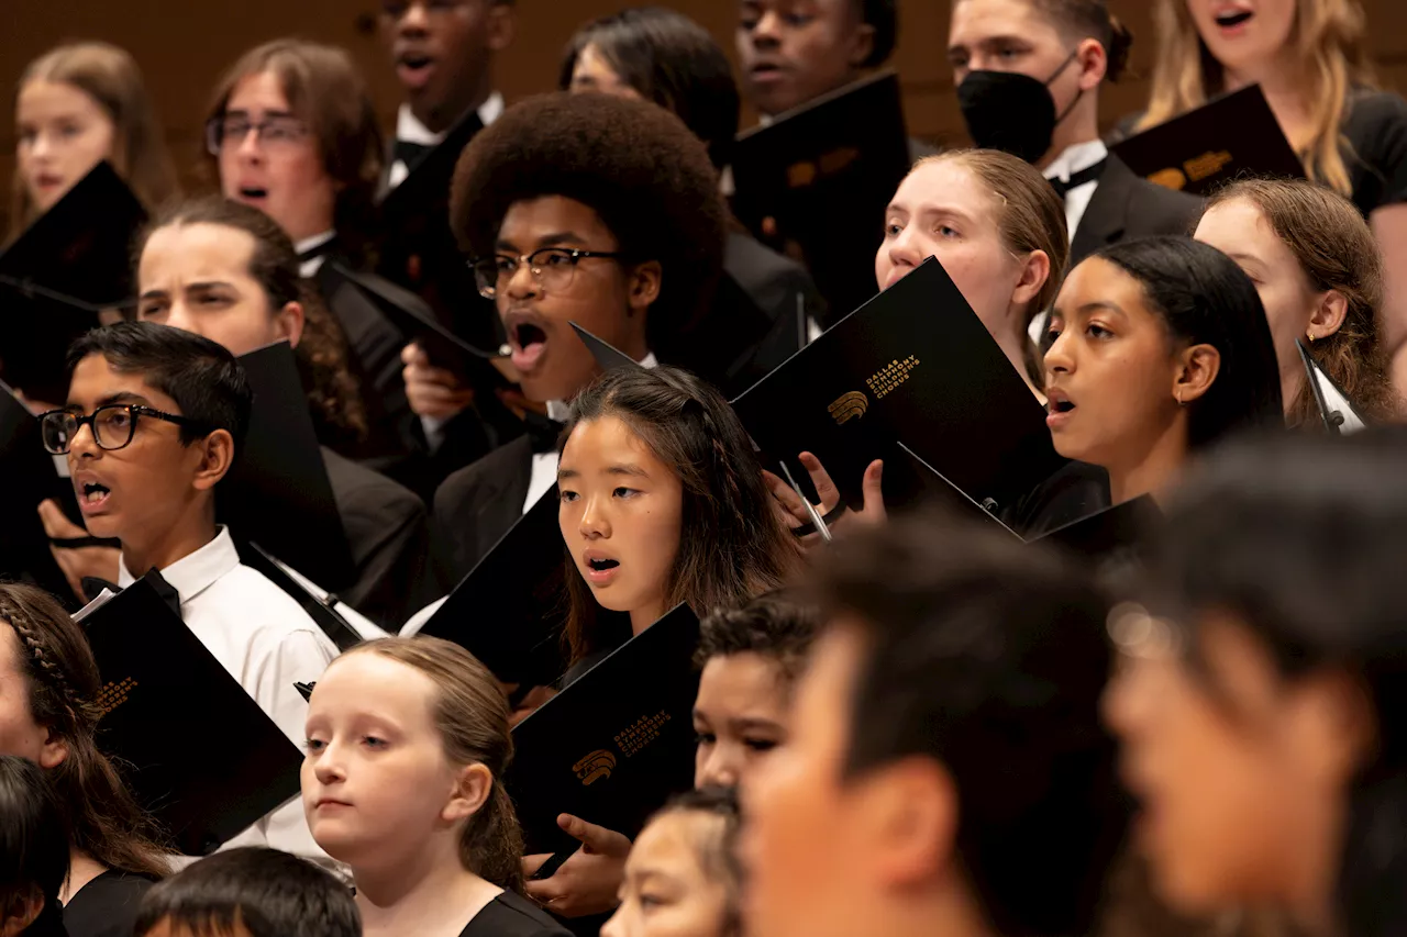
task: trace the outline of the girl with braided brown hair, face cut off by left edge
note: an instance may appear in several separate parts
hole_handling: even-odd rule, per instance
[[[0,582],[0,754],[45,771],[70,836],[59,893],[72,937],[131,934],[169,874],[152,820],[94,741],[103,681],[83,630],[46,592]]]

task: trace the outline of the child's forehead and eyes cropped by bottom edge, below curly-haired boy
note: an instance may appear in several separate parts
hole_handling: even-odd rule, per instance
[[[740,817],[730,788],[691,791],[640,831],[601,937],[740,937]]]

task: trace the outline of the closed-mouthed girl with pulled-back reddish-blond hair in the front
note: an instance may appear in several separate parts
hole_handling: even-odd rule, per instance
[[[318,681],[307,726],[308,827],[352,868],[366,937],[566,937],[522,896],[508,702],[469,651],[362,644]]]

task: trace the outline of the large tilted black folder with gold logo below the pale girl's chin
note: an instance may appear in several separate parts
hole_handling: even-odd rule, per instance
[[[891,506],[934,494],[933,473],[1002,514],[1065,460],[1045,408],[929,259],[733,401],[764,464],[815,453],[851,508],[865,467],[885,460]],[[941,494],[941,485],[938,487]]]

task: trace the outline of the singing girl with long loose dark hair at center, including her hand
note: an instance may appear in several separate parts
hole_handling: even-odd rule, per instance
[[[741,605],[799,566],[741,422],[688,371],[606,371],[577,394],[561,440],[567,681],[680,602],[701,616]],[[612,910],[630,840],[570,815],[559,823],[582,847],[528,893],[566,917]],[[526,857],[525,872],[547,858]]]

